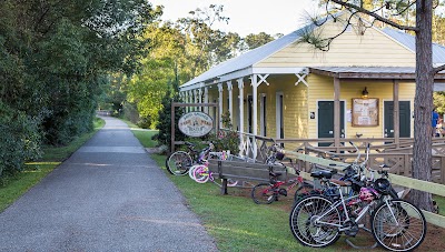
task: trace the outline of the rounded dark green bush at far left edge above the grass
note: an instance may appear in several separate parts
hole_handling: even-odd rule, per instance
[[[41,155],[40,119],[0,102],[0,175],[23,170],[24,162]]]

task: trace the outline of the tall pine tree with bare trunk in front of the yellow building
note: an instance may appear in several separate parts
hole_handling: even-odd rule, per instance
[[[431,181],[432,179],[432,110],[433,110],[433,84],[434,75],[444,70],[445,65],[434,67],[432,58],[432,18],[433,0],[417,0],[417,1],[372,1],[372,0],[326,0],[326,10],[328,17],[336,17],[333,12],[338,10],[348,10],[350,17],[356,17],[358,20],[362,17],[367,17],[368,20],[374,22],[383,22],[394,28],[411,31],[415,33],[416,40],[416,94],[414,100],[414,150],[413,150],[413,178]],[[437,1],[436,1],[437,4]],[[369,9],[369,7],[376,7]],[[379,11],[384,10],[384,14]],[[403,14],[409,11],[415,12],[415,24],[404,23]],[[350,26],[350,18],[347,20],[347,26]],[[320,24],[314,22],[315,24]],[[345,30],[346,27],[345,26]],[[345,31],[344,30],[344,31]],[[343,31],[343,32],[344,32]],[[338,34],[339,36],[339,34]],[[338,37],[336,36],[336,37]],[[336,38],[309,38],[317,48],[328,50],[330,42]],[[418,206],[432,211],[432,195],[426,192],[414,191],[411,193],[412,200]]]

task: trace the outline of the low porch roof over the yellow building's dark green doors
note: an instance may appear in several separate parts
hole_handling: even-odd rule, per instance
[[[415,68],[408,67],[313,67],[309,72],[338,79],[415,80]],[[434,77],[445,82],[445,71]]]

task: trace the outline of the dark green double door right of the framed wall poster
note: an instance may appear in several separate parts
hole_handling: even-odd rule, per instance
[[[394,101],[385,101],[385,128],[384,137],[394,138]],[[399,101],[399,137],[411,138],[411,102]]]

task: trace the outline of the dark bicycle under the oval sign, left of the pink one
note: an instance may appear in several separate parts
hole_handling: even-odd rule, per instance
[[[194,143],[185,142],[185,144],[188,151],[175,151],[166,159],[167,171],[172,175],[187,174],[194,164],[199,163],[199,160],[204,160],[205,155],[215,149],[214,143],[209,142],[209,145],[198,153]]]

